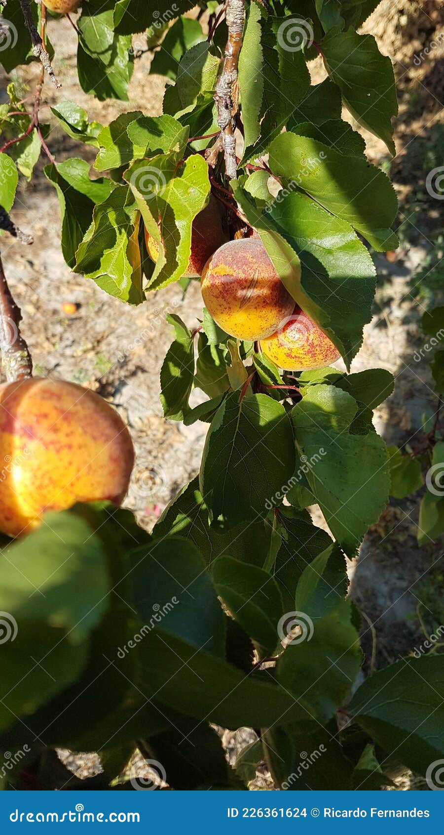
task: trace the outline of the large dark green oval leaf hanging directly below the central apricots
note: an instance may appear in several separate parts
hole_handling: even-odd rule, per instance
[[[291,477],[294,444],[287,413],[266,394],[239,402],[232,392],[212,419],[200,486],[212,523],[222,528],[267,515],[267,499]]]

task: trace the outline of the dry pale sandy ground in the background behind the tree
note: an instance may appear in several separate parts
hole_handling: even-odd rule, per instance
[[[442,3],[432,0],[383,0],[362,28],[375,34],[382,52],[391,56],[399,83],[397,157],[391,174],[401,201],[403,244],[395,261],[377,256],[374,318],[365,329],[364,344],[352,371],[382,367],[395,375],[394,394],[376,412],[377,431],[387,443],[410,443],[412,448],[422,437],[422,415],[432,414],[437,407],[427,367],[429,357],[422,362],[415,359],[424,341],[419,321],[426,300],[417,295],[412,276],[432,247],[442,203],[430,200],[426,210],[419,213],[411,210],[411,204],[416,190],[424,187],[417,154],[423,153],[424,144],[426,149],[427,144],[433,146],[437,130],[444,123],[444,41],[428,56],[418,57],[442,33],[441,15]],[[52,125],[47,144],[57,160],[87,155],[92,161],[94,151],[62,133],[49,104],[62,99],[75,101],[87,109],[90,119],[102,124],[131,109],[142,109],[147,115],[161,114],[164,79],[149,74],[152,53],[143,54],[135,62],[129,102],[101,103],[83,94],[78,86],[77,36],[70,23],[66,18],[51,21],[48,31],[56,44],[53,64],[62,89],[45,84],[41,119]],[[325,73],[319,60],[312,62],[310,69],[313,83],[322,80]],[[21,69],[18,78],[33,89],[37,72],[34,64]],[[1,100],[6,100],[6,78],[2,82]],[[346,113],[344,118],[353,124]],[[385,146],[366,131],[363,134],[369,159],[388,170]],[[169,286],[132,308],[98,290],[92,281],[70,272],[59,245],[57,196],[42,173],[45,163],[42,158],[37,164],[31,183],[21,178],[13,212],[17,225],[32,233],[33,245],[25,247],[6,238],[2,244],[7,277],[22,307],[22,331],[37,374],[91,387],[107,397],[127,421],[137,451],[127,507],[137,512],[149,529],[170,498],[197,473],[202,455],[206,425],[184,427],[166,421],[159,402],[159,372],[172,337],[165,313],[174,310],[188,326],[197,326],[202,311],[199,286],[193,282],[185,297],[178,286]],[[66,301],[77,305],[72,316],[62,311]],[[376,642],[373,649],[377,666],[396,660],[422,642],[415,615],[419,601],[431,617],[439,618],[431,600],[442,542],[422,549],[417,546],[420,495],[392,501],[367,534],[359,557],[349,564],[351,593],[372,624],[364,627],[363,644],[370,657]],[[319,514],[316,521],[321,523]],[[225,743],[234,756],[236,737],[226,737]]]

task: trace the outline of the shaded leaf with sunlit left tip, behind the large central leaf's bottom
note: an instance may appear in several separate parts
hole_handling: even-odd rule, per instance
[[[222,554],[252,563],[259,568],[265,564],[272,529],[260,519],[227,531],[214,530],[208,524],[208,511],[199,491],[199,479],[194,478],[173,498],[154,525],[157,538],[180,534],[196,545],[209,566]],[[254,541],[254,549],[252,549]]]

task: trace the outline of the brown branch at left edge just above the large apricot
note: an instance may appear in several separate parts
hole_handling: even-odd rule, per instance
[[[0,351],[7,382],[32,377],[32,359],[20,334],[22,313],[12,298],[0,256]]]

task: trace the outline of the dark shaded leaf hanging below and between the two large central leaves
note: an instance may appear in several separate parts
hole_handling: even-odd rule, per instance
[[[288,493],[287,495],[290,495]],[[307,510],[282,507],[279,512],[282,542],[277,552],[274,577],[284,595],[288,610],[294,606],[297,584],[307,565],[332,544],[327,531],[315,527]]]

